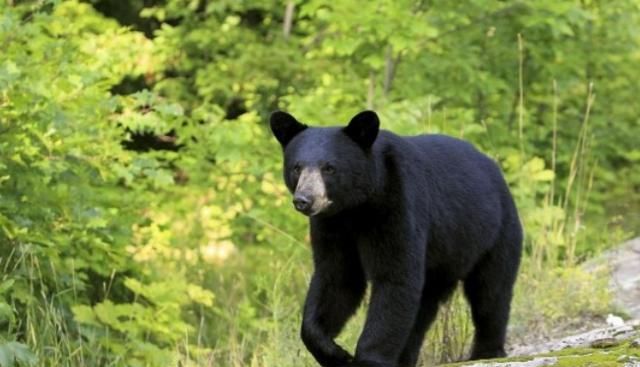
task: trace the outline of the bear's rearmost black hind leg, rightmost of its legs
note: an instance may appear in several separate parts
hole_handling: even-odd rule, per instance
[[[503,236],[464,280],[475,326],[472,360],[506,356],[504,343],[521,242],[519,231]]]

